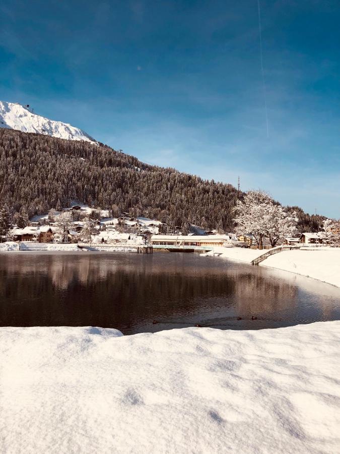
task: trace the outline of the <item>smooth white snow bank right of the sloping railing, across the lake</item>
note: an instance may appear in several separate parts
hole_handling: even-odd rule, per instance
[[[260,265],[292,271],[340,287],[340,248],[280,252]]]

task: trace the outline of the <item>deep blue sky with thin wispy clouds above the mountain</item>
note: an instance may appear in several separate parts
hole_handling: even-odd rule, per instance
[[[12,0],[0,99],[143,161],[340,217],[340,3]]]

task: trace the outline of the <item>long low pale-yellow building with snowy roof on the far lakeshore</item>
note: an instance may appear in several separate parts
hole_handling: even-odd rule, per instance
[[[230,242],[229,235],[153,235],[151,244],[153,246],[223,246]]]

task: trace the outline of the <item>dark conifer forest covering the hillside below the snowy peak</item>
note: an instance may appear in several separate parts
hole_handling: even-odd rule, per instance
[[[0,129],[0,205],[17,219],[79,201],[112,216],[158,219],[170,230],[191,223],[231,232],[238,197],[230,184],[145,164],[104,144]],[[299,232],[317,232],[325,218],[288,209],[298,215]]]

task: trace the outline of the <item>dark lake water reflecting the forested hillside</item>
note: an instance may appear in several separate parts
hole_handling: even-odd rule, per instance
[[[188,253],[0,254],[1,326],[92,325],[131,334],[338,319],[339,289],[241,262]]]

